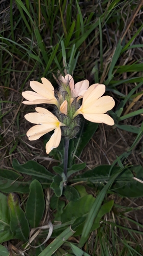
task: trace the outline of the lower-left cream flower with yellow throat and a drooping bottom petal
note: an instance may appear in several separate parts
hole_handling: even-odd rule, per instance
[[[46,143],[46,153],[49,154],[53,148],[59,146],[62,136],[60,126],[65,126],[65,124],[44,108],[38,107],[35,110],[37,113],[29,113],[24,116],[27,121],[37,124],[28,130],[26,135],[29,140],[37,140],[44,134],[54,130],[51,138]]]

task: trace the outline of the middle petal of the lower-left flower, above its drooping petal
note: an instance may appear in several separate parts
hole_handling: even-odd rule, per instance
[[[37,140],[44,134],[49,133],[54,129],[55,127],[50,125],[48,126],[48,124],[37,124],[31,127],[31,129],[27,131],[26,135],[29,140]]]

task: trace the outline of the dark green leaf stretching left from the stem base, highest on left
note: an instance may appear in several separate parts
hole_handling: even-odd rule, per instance
[[[46,180],[52,180],[53,174],[50,173],[43,165],[35,161],[27,161],[24,164],[20,164],[17,159],[13,159],[12,166],[20,173],[31,175],[34,178],[39,177]]]

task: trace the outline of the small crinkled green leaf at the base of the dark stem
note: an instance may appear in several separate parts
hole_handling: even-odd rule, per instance
[[[50,187],[54,190],[54,193],[57,197],[61,197],[63,192],[63,186],[66,180],[67,179],[64,173],[62,174],[62,176],[56,175],[53,177],[53,181]]]

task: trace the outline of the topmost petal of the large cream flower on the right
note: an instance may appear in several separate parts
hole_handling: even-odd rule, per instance
[[[105,92],[104,84],[95,83],[84,93],[82,104],[91,105],[99,99]]]

